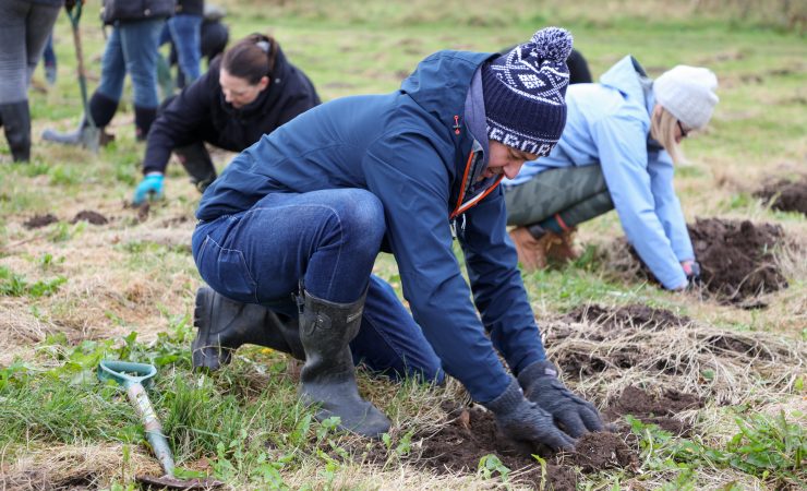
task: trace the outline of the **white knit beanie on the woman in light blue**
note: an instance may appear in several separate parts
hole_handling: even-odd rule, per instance
[[[711,70],[679,64],[653,82],[655,101],[692,130],[702,130],[718,104],[718,77]]]

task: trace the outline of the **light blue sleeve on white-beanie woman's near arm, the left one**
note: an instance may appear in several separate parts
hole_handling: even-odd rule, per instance
[[[603,118],[592,124],[592,136],[628,242],[664,288],[686,284],[684,270],[657,214],[647,132],[641,122],[621,116]]]

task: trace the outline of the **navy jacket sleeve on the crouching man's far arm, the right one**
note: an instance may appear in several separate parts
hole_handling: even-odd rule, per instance
[[[506,231],[507,211],[502,189],[494,191],[460,218],[458,232],[477,308],[493,346],[514,373],[546,358],[518,256]]]

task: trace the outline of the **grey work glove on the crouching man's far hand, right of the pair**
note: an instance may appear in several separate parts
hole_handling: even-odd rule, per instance
[[[525,396],[551,414],[554,422],[573,438],[603,429],[600,411],[557,380],[557,369],[552,362],[532,363],[518,374],[518,382]]]

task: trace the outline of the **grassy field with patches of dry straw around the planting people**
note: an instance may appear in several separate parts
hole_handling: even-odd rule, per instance
[[[94,14],[96,2],[88,3],[82,37],[92,91],[104,34]],[[687,436],[635,422],[628,442],[638,456],[636,466],[597,472],[575,468],[578,489],[807,486],[807,219],[772,209],[752,195],[766,179],[807,172],[807,43],[798,24],[785,28],[788,19],[802,19],[798,2],[221,3],[229,12],[231,39],[273,34],[325,100],[396,89],[435,50],[495,51],[545,25],[571,31],[595,77],[626,53],[653,76],[678,63],[711,68],[720,79],[721,101],[708,131],[686,141],[690,163],[676,175],[685,215],[688,221],[720,217],[783,227],[791,243],[802,246],[775,251],[790,287],[759,299],[767,308],[746,310],[626,277],[603,259],[622,236],[613,213],[581,227],[588,247],[583,260],[523,278],[544,335],[556,340],[552,357],[580,346],[585,356],[604,357],[604,350],[618,350],[624,342],[648,360],[667,357],[683,367],[671,373],[652,363],[613,366],[597,376],[567,380],[599,407],[607,407],[628,384],[676,388],[704,400],[699,409],[678,415],[694,428]],[[362,393],[394,423],[388,439],[364,442],[313,422],[311,412],[297,405],[294,367],[284,355],[242,349],[219,373],[192,373],[190,315],[202,282],[190,236],[200,196],[173,163],[167,200],[148,213],[127,206],[144,152],[134,141],[129,87],[110,127],[116,141],[99,154],[40,141],[43,129],[72,129],[82,112],[64,16],[56,38],[58,83],[31,92],[33,160],[10,164],[0,139],[2,489],[137,489],[135,474],[160,474],[125,397],[96,381],[103,358],[158,367],[152,400],[183,476],[214,475],[232,489],[528,486],[518,480],[517,469],[490,466],[490,459],[479,471],[467,472],[420,465],[423,442],[413,435],[438,431],[445,424],[441,403],[466,397],[454,381],[430,388],[361,373]],[[35,87],[44,86],[40,70]],[[224,168],[231,156],[216,153],[214,158]],[[88,211],[108,221],[75,220]],[[25,226],[46,214],[55,223]],[[389,256],[380,256],[376,270],[399,287]],[[559,342],[563,330],[595,327],[564,316],[593,304],[665,309],[694,320],[698,334],[670,330],[612,344]],[[703,339],[716,338],[739,339],[755,349],[731,359],[699,351]],[[384,457],[371,458],[377,455]]]

